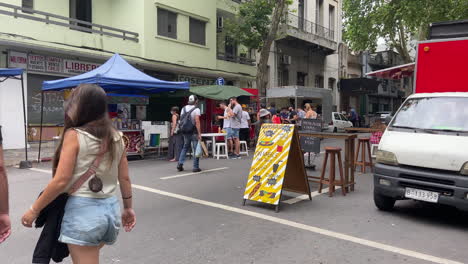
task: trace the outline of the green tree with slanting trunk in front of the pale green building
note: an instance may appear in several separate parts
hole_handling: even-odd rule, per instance
[[[226,32],[230,39],[259,52],[256,84],[264,91],[268,83],[268,58],[278,29],[292,0],[249,0],[239,5],[234,19],[228,20]]]

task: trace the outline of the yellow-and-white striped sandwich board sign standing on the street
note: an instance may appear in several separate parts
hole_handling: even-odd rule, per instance
[[[263,124],[244,192],[247,200],[272,204],[279,210],[282,191],[308,194],[299,136],[294,125]]]

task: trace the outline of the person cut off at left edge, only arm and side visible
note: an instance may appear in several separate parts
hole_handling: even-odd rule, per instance
[[[3,161],[2,144],[2,126],[0,126],[0,243],[5,241],[11,234],[11,222],[8,204],[8,178]]]

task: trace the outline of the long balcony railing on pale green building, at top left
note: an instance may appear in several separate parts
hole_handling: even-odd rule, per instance
[[[0,3],[0,14],[14,18],[23,18],[29,21],[42,22],[44,25],[55,25],[85,33],[138,42],[138,33],[135,32],[94,24],[34,9],[22,8],[21,6]]]

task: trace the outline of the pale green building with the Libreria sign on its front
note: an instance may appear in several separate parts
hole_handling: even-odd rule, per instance
[[[200,4],[203,2],[203,4]],[[2,0],[0,67],[27,69],[29,125],[40,121],[43,81],[92,70],[119,53],[144,72],[168,81],[248,88],[255,64],[237,47],[219,52],[218,15],[234,0]],[[224,54],[224,55],[223,55]],[[181,97],[151,98],[149,115],[164,116]],[[63,94],[47,93],[44,122],[63,122]]]

